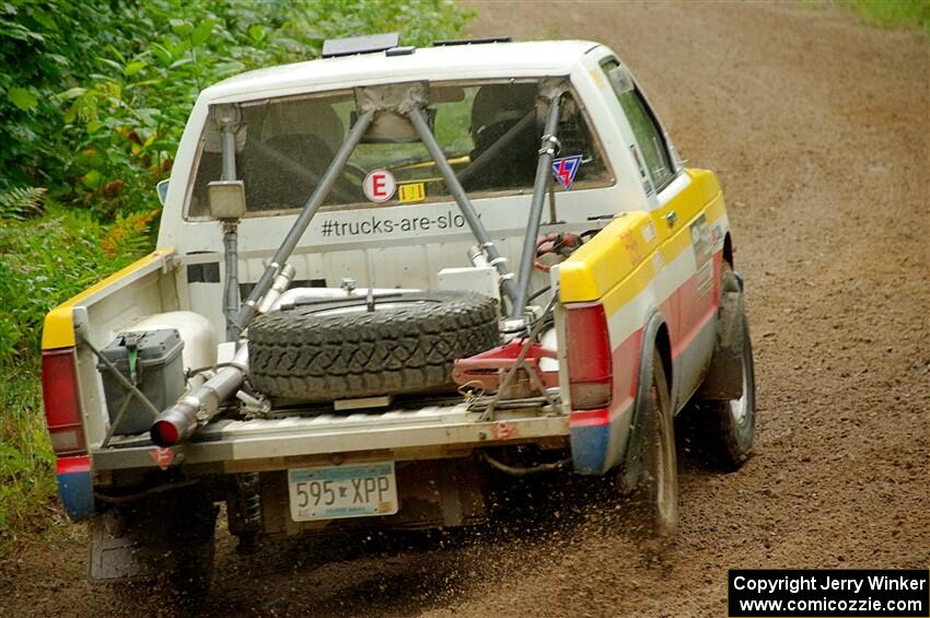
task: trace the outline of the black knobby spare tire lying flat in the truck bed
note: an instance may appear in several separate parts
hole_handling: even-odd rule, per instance
[[[319,301],[248,327],[248,380],[272,398],[332,401],[443,390],[452,364],[499,343],[497,301],[470,292],[398,292]]]

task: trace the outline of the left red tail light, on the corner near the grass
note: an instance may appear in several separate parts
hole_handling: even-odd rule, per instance
[[[42,352],[42,396],[55,455],[86,454],[73,348]]]

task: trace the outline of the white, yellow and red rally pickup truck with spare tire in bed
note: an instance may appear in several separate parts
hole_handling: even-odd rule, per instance
[[[670,535],[678,412],[751,455],[720,184],[603,45],[330,40],[202,91],[160,191],[156,249],[43,333],[93,580],[208,583],[222,504],[249,549],[477,523],[547,470]]]

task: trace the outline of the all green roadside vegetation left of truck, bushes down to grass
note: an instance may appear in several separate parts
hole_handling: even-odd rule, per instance
[[[199,91],[334,36],[427,45],[469,18],[451,0],[0,0],[0,553],[54,487],[43,318],[151,250]]]

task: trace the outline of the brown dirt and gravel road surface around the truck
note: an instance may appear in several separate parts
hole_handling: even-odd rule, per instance
[[[297,538],[245,560],[221,533],[204,611],[724,616],[729,568],[926,569],[926,37],[793,4],[478,9],[476,35],[614,47],[690,165],[720,174],[751,303],[757,454],[731,475],[683,457],[662,560],[597,487],[556,478],[467,532]],[[91,587],[83,533],[66,532],[0,564],[0,615],[175,614],[163,591],[126,604]]]

